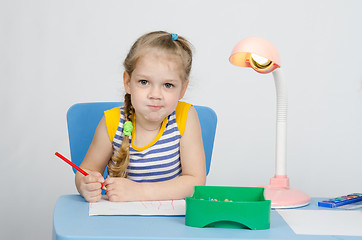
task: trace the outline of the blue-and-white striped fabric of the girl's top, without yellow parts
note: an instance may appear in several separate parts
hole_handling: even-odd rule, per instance
[[[124,122],[122,106],[121,120],[113,139],[115,149],[119,149],[122,143]],[[140,148],[139,151],[135,150],[131,145],[130,163],[127,168],[128,178],[136,182],[161,182],[179,176],[181,174],[180,139],[181,135],[177,127],[176,115],[173,112],[168,116],[164,132],[155,144],[146,149]],[[132,135],[130,136],[130,144],[131,142]]]

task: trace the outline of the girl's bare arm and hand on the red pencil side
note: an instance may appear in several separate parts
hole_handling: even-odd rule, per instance
[[[103,172],[112,156],[112,143],[109,140],[106,121],[103,117],[99,122],[91,145],[80,165],[89,175],[75,174],[78,192],[88,201],[96,202],[101,198],[101,183],[104,182]]]

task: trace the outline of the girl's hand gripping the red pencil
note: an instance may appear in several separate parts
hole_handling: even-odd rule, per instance
[[[104,178],[99,172],[87,172],[89,175],[80,179],[78,191],[86,201],[97,202],[102,197],[101,183],[104,182]]]

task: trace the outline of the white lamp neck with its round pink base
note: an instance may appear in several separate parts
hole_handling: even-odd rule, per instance
[[[273,71],[277,95],[277,124],[276,124],[276,167],[275,176],[270,179],[270,185],[264,187],[265,199],[271,200],[272,208],[294,208],[308,205],[310,197],[289,187],[286,174],[287,153],[287,114],[288,94],[287,84],[281,68]]]

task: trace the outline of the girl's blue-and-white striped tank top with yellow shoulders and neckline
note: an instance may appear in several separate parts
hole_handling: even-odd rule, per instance
[[[156,138],[144,147],[132,141],[136,128],[130,136],[130,162],[127,178],[136,182],[161,182],[181,174],[180,139],[185,130],[191,104],[179,102],[176,110],[162,122]],[[119,150],[123,141],[125,122],[124,106],[105,111],[108,135],[113,149]]]

